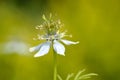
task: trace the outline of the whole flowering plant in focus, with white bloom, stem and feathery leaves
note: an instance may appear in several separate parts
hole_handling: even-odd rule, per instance
[[[45,43],[39,44],[35,47],[31,47],[29,49],[30,52],[38,51],[34,57],[40,57],[49,52],[50,47],[53,49],[53,56],[54,56],[54,73],[53,73],[53,80],[63,80],[60,75],[57,73],[57,54],[65,56],[65,47],[63,44],[71,45],[71,44],[78,44],[79,42],[73,42],[69,40],[62,39],[65,36],[71,37],[71,35],[66,35],[66,31],[62,32],[62,24],[60,20],[53,20],[52,14],[50,14],[49,19],[43,15],[42,17],[44,19],[44,23],[42,25],[39,25],[36,27],[36,29],[39,29],[41,31],[40,34],[38,34],[37,40],[46,40]],[[81,73],[84,72],[84,70],[79,71],[78,74],[76,74],[74,80],[82,80],[90,78],[93,75],[97,75],[95,73],[85,74],[81,75]],[[73,77],[73,74],[69,74],[66,78],[66,80],[70,80],[71,77]]]

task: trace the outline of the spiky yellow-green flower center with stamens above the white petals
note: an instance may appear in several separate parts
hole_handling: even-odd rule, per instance
[[[66,32],[59,33],[61,27],[63,24],[61,24],[60,20],[52,20],[51,16],[49,19],[47,19],[43,15],[44,22],[42,25],[37,26],[36,29],[40,30],[41,33],[43,32],[43,35],[38,34],[38,40],[47,40],[47,41],[53,41],[53,40],[60,40],[64,36],[71,36],[71,35],[65,35]],[[36,40],[36,39],[35,39]]]

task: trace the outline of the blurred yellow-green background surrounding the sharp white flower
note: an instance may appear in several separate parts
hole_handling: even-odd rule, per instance
[[[42,42],[33,40],[35,26],[49,13],[65,24],[73,35],[68,39],[80,41],[65,46],[65,57],[58,56],[64,79],[85,68],[99,74],[89,80],[120,80],[120,0],[0,0],[0,80],[52,80],[51,51],[39,58],[19,53]],[[6,52],[7,43],[17,51]]]

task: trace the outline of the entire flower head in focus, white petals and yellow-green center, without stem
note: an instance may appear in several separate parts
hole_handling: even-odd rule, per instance
[[[57,54],[60,55],[65,55],[65,47],[63,44],[60,42],[66,44],[66,45],[71,45],[71,44],[78,44],[79,42],[73,42],[69,40],[62,39],[65,36],[66,32],[60,33],[60,28],[61,28],[61,22],[60,21],[53,21],[51,18],[50,20],[47,20],[45,16],[43,16],[43,19],[45,22],[37,26],[36,29],[40,29],[42,31],[45,31],[44,35],[38,35],[39,40],[46,40],[45,43],[39,44],[35,47],[31,47],[29,49],[30,52],[38,51],[34,57],[40,57],[45,54],[47,54],[50,50],[50,46],[53,46],[54,51]]]

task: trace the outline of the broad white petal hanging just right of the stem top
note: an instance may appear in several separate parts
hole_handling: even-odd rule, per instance
[[[61,43],[59,43],[58,41],[54,40],[53,48],[57,52],[57,54],[65,55],[64,54],[65,47]]]

